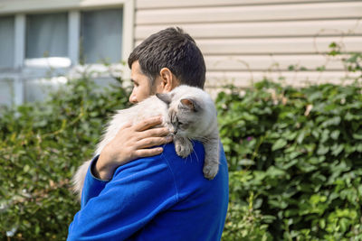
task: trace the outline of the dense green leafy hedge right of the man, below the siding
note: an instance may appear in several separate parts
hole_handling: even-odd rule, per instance
[[[230,171],[224,240],[362,240],[362,88],[231,89],[216,100]]]

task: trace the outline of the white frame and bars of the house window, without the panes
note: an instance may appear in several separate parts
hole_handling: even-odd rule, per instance
[[[25,65],[25,28],[26,14],[44,14],[55,12],[67,12],[68,17],[68,58],[71,60],[72,69],[80,69],[79,66],[79,42],[81,34],[81,11],[101,10],[121,7],[123,11],[122,26],[122,61],[127,62],[130,52],[134,47],[134,0],[5,0],[0,3],[1,15],[14,15],[14,104],[24,103],[23,74],[33,72],[33,68]],[[100,64],[90,64],[87,68],[103,70]],[[116,67],[117,68],[117,67]],[[81,68],[82,69],[82,68]],[[35,70],[36,72],[36,70]],[[40,73],[43,73],[41,70]],[[129,78],[129,69],[122,69],[122,77]],[[0,79],[6,78],[9,73],[1,73]],[[11,76],[14,76],[12,71]],[[41,74],[40,76],[41,77]],[[1,80],[0,80],[1,81]]]

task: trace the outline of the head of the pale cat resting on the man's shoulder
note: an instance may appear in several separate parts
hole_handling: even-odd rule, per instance
[[[167,104],[165,124],[174,134],[197,138],[217,128],[214,102],[201,88],[183,85],[157,97]]]

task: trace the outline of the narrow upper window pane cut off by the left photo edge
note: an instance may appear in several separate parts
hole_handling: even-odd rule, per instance
[[[14,67],[14,16],[0,17],[0,69]]]

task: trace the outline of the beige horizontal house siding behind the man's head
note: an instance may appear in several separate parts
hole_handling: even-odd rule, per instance
[[[329,44],[362,52],[362,1],[137,0],[135,11],[135,45],[167,26],[195,38],[208,88],[244,88],[263,77],[296,86],[338,82],[346,71],[340,57],[326,55]]]

